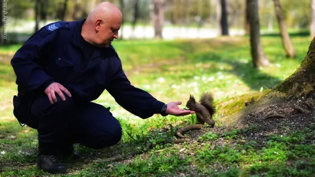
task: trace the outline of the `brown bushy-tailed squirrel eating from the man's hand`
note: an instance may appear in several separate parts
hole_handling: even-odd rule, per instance
[[[190,94],[186,107],[189,108],[189,110],[196,112],[199,124],[204,124],[206,122],[211,125],[211,127],[214,127],[215,121],[212,117],[216,113],[216,107],[213,103],[212,94],[209,92],[203,92],[200,96],[199,102],[200,103],[196,102],[195,98]]]

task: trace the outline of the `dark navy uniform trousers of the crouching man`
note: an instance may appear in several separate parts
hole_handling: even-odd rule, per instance
[[[40,151],[53,154],[76,143],[100,149],[121,140],[121,124],[109,109],[93,102],[76,103],[72,97],[64,96],[65,101],[56,93],[58,101],[54,104],[46,94],[32,102],[31,122],[37,124]]]

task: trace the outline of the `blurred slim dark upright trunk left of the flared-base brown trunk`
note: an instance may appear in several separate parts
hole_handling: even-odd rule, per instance
[[[218,30],[219,35],[228,35],[228,24],[227,24],[227,11],[226,11],[226,1],[218,0],[217,5],[217,20],[218,20]]]

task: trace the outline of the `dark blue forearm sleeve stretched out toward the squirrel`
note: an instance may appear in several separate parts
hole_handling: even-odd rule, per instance
[[[120,106],[143,119],[160,113],[165,104],[147,91],[132,86],[122,68],[115,74],[107,91]]]

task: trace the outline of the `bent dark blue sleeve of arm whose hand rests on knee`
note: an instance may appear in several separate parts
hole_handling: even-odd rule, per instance
[[[45,28],[39,29],[33,34],[11,59],[11,65],[16,74],[16,84],[22,85],[27,90],[46,89],[54,81],[42,68],[36,64],[50,46],[54,32],[48,32]]]

